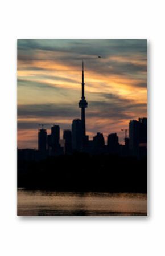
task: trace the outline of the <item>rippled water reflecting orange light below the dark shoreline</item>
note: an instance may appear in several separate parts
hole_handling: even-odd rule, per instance
[[[18,216],[146,216],[147,195],[18,190]]]

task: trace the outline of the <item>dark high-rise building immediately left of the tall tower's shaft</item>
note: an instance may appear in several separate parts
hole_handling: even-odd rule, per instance
[[[83,147],[83,126],[80,119],[72,122],[72,149],[80,151]]]

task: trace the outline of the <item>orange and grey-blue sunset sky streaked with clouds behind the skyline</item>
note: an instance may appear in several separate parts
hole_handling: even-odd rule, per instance
[[[100,55],[102,58],[98,58]],[[80,118],[85,62],[86,134],[117,132],[147,116],[147,40],[18,40],[18,148],[38,148],[38,124]]]

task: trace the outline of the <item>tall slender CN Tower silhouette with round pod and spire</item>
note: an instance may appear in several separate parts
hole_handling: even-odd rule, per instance
[[[81,122],[83,126],[83,136],[86,135],[85,131],[85,108],[88,107],[88,103],[85,100],[85,83],[84,83],[84,62],[83,62],[83,74],[82,74],[82,97],[81,100],[79,101],[79,108],[81,108]]]

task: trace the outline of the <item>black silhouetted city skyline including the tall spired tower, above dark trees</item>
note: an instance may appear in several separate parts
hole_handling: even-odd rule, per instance
[[[99,58],[101,58],[99,56]],[[51,127],[51,133],[42,128],[38,132],[38,152],[40,157],[74,155],[75,152],[85,152],[89,155],[117,154],[121,156],[143,157],[147,155],[147,118],[139,117],[139,120],[130,120],[129,137],[127,130],[125,132],[125,145],[119,144],[117,133],[109,133],[107,144],[104,135],[100,132],[90,140],[86,134],[85,108],[88,107],[88,101],[85,99],[85,72],[84,61],[82,63],[82,83],[81,99],[79,108],[81,108],[81,118],[73,119],[71,129],[63,131],[64,144],[60,143],[60,127],[54,124]],[[33,151],[34,153],[34,151]]]

